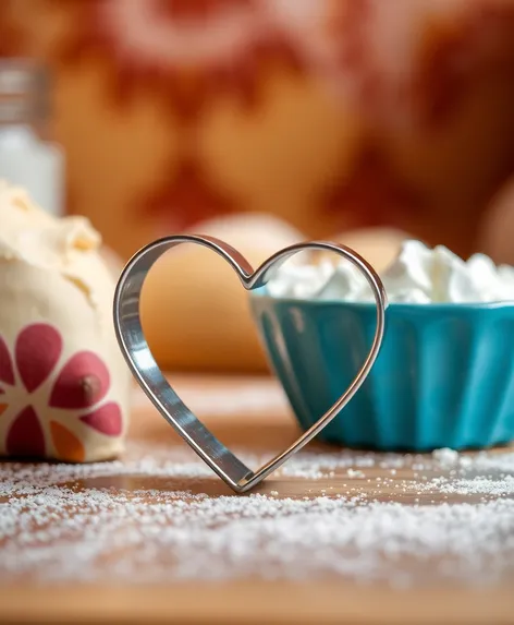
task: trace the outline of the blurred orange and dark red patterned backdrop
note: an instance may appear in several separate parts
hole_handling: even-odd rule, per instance
[[[514,0],[1,0],[45,59],[69,211],[122,255],[219,214],[457,252],[514,172]]]

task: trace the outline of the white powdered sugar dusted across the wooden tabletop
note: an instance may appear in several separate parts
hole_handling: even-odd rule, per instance
[[[512,450],[309,450],[261,492],[235,496],[182,446],[131,443],[123,460],[95,465],[4,464],[0,581],[505,580],[513,473]]]

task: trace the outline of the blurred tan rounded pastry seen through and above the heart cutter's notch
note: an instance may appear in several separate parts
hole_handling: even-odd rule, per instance
[[[206,221],[195,232],[217,237],[256,268],[305,236],[268,215],[242,214]],[[161,257],[143,287],[142,317],[159,364],[176,370],[265,371],[247,293],[213,252],[183,244]]]

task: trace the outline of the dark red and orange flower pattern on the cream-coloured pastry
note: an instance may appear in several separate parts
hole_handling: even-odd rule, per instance
[[[26,392],[25,405],[15,414],[5,436],[5,452],[11,456],[49,455],[41,424],[44,418],[49,420],[56,456],[62,460],[84,461],[86,452],[82,441],[56,420],[61,410],[77,411],[81,423],[103,435],[122,433],[120,406],[114,401],[99,405],[109,390],[110,376],[105,362],[93,351],[78,351],[64,363],[51,386],[48,405],[41,408],[40,398],[35,394],[56,370],[62,348],[61,334],[53,326],[30,324],[16,338],[13,361],[0,336],[0,417],[10,407],[10,392],[20,386]],[[20,393],[15,397],[17,405]]]

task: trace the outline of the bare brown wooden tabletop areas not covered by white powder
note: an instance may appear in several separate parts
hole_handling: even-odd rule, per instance
[[[254,453],[279,448],[296,435],[294,420],[277,384],[268,378],[220,378],[205,376],[173,376],[175,387],[188,405],[196,409],[205,422],[227,444],[245,447]],[[146,398],[134,392],[134,414],[130,440],[151,445],[180,448],[184,443],[176,437]],[[314,444],[309,450],[325,453]],[[500,449],[498,454],[509,453]],[[512,450],[511,450],[512,453]],[[122,462],[124,460],[122,459]],[[9,464],[1,465],[9,471]],[[13,468],[14,470],[14,468]],[[330,496],[346,496],[352,489],[383,502],[414,503],[414,495],[400,493],[394,480],[377,482],[386,470],[380,466],[366,469],[368,480],[334,470],[330,477],[309,479],[295,476],[271,476],[258,486],[262,494],[279,493],[280,497],[314,498],[329,491]],[[390,473],[388,473],[390,474]],[[413,484],[421,480],[415,468],[397,472],[399,480]],[[75,484],[76,485],[76,484]],[[79,488],[96,488],[99,482],[82,480]],[[68,484],[70,486],[70,484]],[[210,497],[230,495],[228,488],[215,476],[195,478],[131,476],[111,471],[102,478],[102,488],[112,492],[161,493],[171,491],[206,493]],[[76,488],[78,488],[76,485]],[[414,491],[413,491],[414,492]],[[151,495],[154,496],[154,495]],[[184,498],[187,498],[184,494]],[[419,495],[426,505],[462,502],[460,495]],[[150,498],[150,494],[148,494]],[[482,497],[470,494],[466,503],[479,505]],[[9,506],[9,498],[0,505]],[[127,521],[130,522],[130,520]],[[512,536],[511,536],[512,540]],[[0,541],[0,545],[1,545]],[[49,549],[52,542],[49,540]],[[128,554],[130,555],[130,554]],[[216,566],[216,563],[213,564]],[[151,567],[152,563],[144,566]],[[405,573],[416,563],[405,563]],[[0,569],[2,564],[0,562]],[[513,567],[511,567],[511,570]],[[432,580],[433,581],[433,580]],[[392,588],[387,581],[357,584],[355,580],[332,576],[321,580],[292,581],[227,579],[218,581],[169,581],[159,584],[131,584],[117,579],[77,581],[73,575],[69,582],[51,584],[26,573],[22,578],[0,587],[1,623],[211,623],[232,624],[511,624],[514,623],[514,577],[500,576],[484,587],[449,585],[437,579],[430,585],[421,582],[408,588]]]

